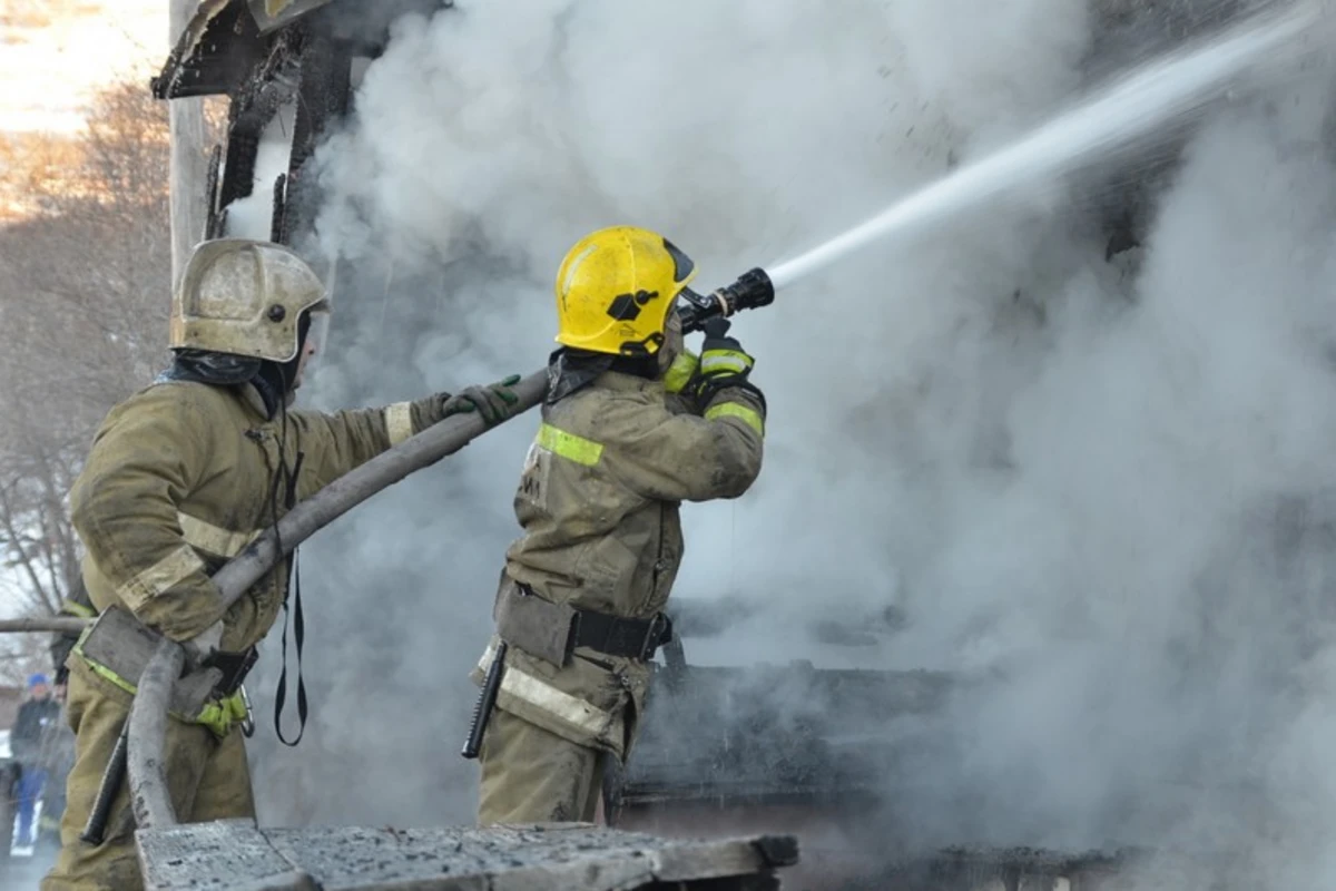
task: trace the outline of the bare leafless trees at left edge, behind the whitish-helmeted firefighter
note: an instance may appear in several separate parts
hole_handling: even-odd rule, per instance
[[[99,95],[75,139],[0,138],[0,585],[24,616],[80,584],[69,489],[107,411],[166,358],[168,142],[142,80]],[[7,641],[0,679],[45,659],[43,639]]]

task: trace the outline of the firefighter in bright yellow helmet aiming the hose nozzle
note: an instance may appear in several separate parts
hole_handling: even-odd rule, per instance
[[[683,501],[736,498],[762,465],[752,358],[707,329],[699,363],[673,311],[693,277],[633,227],[578,242],[557,275],[557,342],[506,552],[496,708],[482,737],[480,824],[591,820],[607,759],[625,759],[671,640],[661,612],[683,556]]]

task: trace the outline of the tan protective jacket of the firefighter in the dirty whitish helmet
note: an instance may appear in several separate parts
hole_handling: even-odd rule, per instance
[[[442,402],[270,418],[250,383],[142,390],[107,415],[71,493],[94,606],[120,604],[175,640],[222,617],[222,649],[259,643],[282,608],[286,565],[226,616],[210,573],[294,501],[440,421]]]

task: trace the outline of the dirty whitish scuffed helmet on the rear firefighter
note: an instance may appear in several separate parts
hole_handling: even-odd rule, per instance
[[[323,282],[287,247],[204,242],[172,295],[170,346],[287,362],[297,355],[302,313],[326,306]]]

